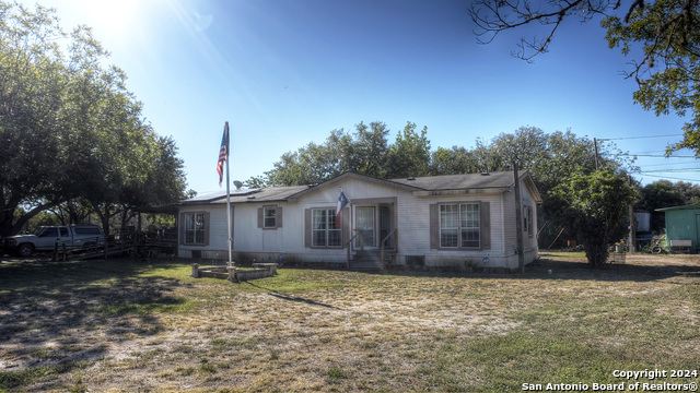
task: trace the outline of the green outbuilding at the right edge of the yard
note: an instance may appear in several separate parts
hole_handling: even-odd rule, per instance
[[[666,245],[673,250],[698,253],[700,204],[657,209],[666,214]]]

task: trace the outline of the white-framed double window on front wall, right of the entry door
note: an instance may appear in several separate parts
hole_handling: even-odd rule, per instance
[[[479,248],[480,235],[478,203],[440,205],[440,247]]]

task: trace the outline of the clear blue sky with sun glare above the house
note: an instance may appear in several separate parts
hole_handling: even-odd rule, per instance
[[[700,183],[692,152],[663,158],[684,119],[634,104],[637,84],[622,76],[632,59],[607,47],[597,21],[569,21],[527,63],[511,52],[544,33],[479,44],[468,0],[22,1],[37,2],[55,8],[65,29],[93,28],[147,122],[175,140],[199,194],[220,190],[225,121],[232,181],[331,130],[382,121],[393,143],[410,121],[428,127],[432,150],[470,148],[523,126],[571,130],[637,155],[643,184]]]

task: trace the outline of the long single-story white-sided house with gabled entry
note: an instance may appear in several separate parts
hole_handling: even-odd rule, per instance
[[[234,261],[349,267],[516,269],[516,206],[525,263],[537,258],[541,196],[527,171],[383,180],[347,172],[316,186],[232,191]],[[348,200],[339,212],[340,190]],[[178,255],[228,260],[225,192],[178,206]]]

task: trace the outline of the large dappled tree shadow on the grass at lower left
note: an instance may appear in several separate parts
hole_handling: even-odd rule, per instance
[[[187,284],[140,277],[149,265],[153,262],[3,262],[0,358],[21,359],[19,369],[92,361],[105,355],[105,337],[133,340],[165,330],[154,313],[184,307],[186,299],[173,291]]]

